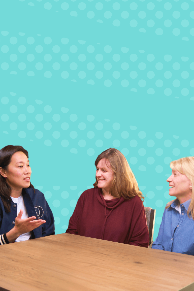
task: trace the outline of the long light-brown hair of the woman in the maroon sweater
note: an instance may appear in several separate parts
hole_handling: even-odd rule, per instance
[[[134,176],[134,173],[131,171],[131,168],[124,157],[124,155],[115,148],[109,148],[102,152],[97,159],[95,160],[95,166],[101,159],[105,159],[105,162],[109,161],[111,170],[115,173],[111,188],[110,194],[113,197],[123,197],[124,199],[130,199],[139,196],[144,201],[144,196],[138,188],[138,183]],[[98,182],[93,184],[97,188]]]

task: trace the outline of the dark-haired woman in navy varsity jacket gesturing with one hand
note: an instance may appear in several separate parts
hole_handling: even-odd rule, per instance
[[[53,214],[31,173],[22,146],[0,150],[0,245],[55,234]]]

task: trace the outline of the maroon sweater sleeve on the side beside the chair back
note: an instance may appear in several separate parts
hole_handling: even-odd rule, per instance
[[[139,197],[137,196],[137,198]],[[137,203],[134,205],[128,244],[148,248],[149,231],[146,223],[145,209],[143,202],[140,200],[140,198],[137,198]]]

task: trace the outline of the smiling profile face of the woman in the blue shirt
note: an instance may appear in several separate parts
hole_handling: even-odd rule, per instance
[[[192,195],[192,184],[186,175],[172,170],[172,175],[166,180],[169,182],[169,195],[181,199],[181,203],[189,200]],[[183,201],[184,200],[184,201]]]

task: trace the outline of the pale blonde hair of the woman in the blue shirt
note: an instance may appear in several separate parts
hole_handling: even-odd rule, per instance
[[[194,157],[184,157],[176,161],[172,161],[170,163],[170,168],[172,170],[179,171],[179,173],[181,174],[186,175],[186,177],[191,181],[192,196],[191,196],[191,202],[187,210],[187,215],[188,217],[192,217],[194,220]],[[170,205],[172,204],[172,202],[174,202],[175,200],[168,202],[165,209],[168,209]],[[177,205],[180,205],[179,201],[177,202]],[[191,216],[189,215],[190,212],[191,212]]]

